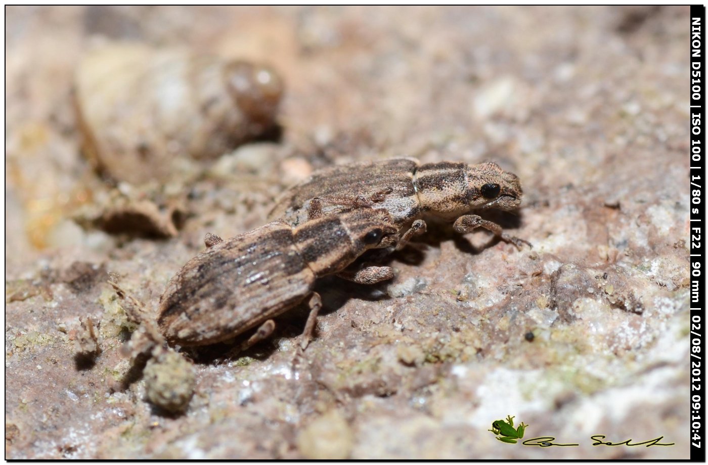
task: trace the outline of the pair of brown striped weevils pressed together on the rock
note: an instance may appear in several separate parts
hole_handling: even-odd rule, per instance
[[[364,252],[406,245],[426,231],[423,218],[454,220],[457,232],[485,228],[520,248],[529,242],[473,211],[518,208],[515,174],[494,163],[386,159],[315,172],[276,202],[267,225],[227,240],[207,234],[160,298],[154,338],[200,346],[257,328],[240,349],[270,336],[273,318],[307,301],[300,347],[316,325],[317,278],[336,274],[360,284],[392,279],[390,267],[349,268]]]

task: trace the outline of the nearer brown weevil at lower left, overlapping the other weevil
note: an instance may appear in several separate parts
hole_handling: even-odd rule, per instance
[[[207,235],[207,250],[190,259],[161,296],[159,331],[168,342],[196,346],[258,327],[246,347],[273,332],[272,318],[309,297],[304,349],[321,308],[315,279],[338,273],[370,248],[394,244],[397,232],[386,211],[360,208],[296,228],[278,220],[227,240]]]

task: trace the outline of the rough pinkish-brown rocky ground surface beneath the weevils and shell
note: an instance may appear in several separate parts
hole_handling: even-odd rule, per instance
[[[6,458],[688,457],[687,7],[6,13]],[[71,88],[114,40],[269,62],[280,137],[109,184]],[[126,357],[109,273],[154,309],[205,232],[262,225],[313,169],[404,155],[518,174],[523,208],[495,219],[533,248],[432,225],[390,283],[321,280],[303,354],[297,308],[230,361]],[[107,227],[125,202],[133,226]],[[148,399],[192,393],[184,413]],[[499,442],[507,415],[579,445]]]

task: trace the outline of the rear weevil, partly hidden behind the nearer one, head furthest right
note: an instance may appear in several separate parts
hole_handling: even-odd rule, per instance
[[[454,228],[461,233],[485,228],[520,248],[530,243],[470,212],[514,210],[520,206],[522,194],[518,177],[496,163],[420,164],[413,158],[394,158],[314,172],[278,198],[269,218],[282,218],[295,226],[312,215],[367,206],[391,214],[394,224],[404,232],[399,248],[413,235],[425,232],[426,217],[455,220]]]

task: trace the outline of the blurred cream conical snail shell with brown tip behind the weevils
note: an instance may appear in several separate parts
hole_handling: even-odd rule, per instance
[[[141,183],[273,127],[282,80],[250,62],[122,44],[87,55],[74,91],[86,155],[108,177]]]

